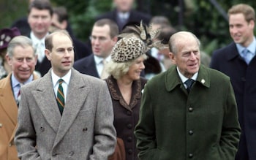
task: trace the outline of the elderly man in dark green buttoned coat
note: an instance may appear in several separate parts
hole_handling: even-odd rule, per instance
[[[169,41],[175,66],[149,80],[135,127],[142,160],[233,160],[241,129],[230,78],[200,66],[200,41]]]

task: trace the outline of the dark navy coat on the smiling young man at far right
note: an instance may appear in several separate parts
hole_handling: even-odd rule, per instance
[[[233,85],[242,134],[239,142],[238,157],[249,159],[256,157],[256,58],[247,65],[239,56],[236,44],[215,50],[211,58],[211,68],[217,69],[230,77]],[[247,149],[246,149],[247,148]]]

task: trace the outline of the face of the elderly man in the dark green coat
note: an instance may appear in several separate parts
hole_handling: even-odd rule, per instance
[[[185,77],[192,77],[199,70],[200,49],[197,41],[193,37],[188,37],[179,41],[176,54],[170,53],[173,64],[178,66],[179,71]]]

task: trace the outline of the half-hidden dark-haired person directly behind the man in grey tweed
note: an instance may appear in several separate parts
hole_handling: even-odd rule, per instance
[[[72,29],[68,21],[67,9],[65,7],[53,7],[53,18],[50,26],[50,32],[53,32],[56,29],[65,29],[72,37],[74,43],[75,61],[91,54],[87,45],[75,38],[75,36],[72,34]]]

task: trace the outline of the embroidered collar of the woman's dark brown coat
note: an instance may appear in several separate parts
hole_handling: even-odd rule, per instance
[[[140,99],[141,97],[142,90],[140,80],[135,80],[132,83],[132,97],[130,100],[130,104],[127,104],[127,102],[124,101],[124,98],[121,95],[121,91],[118,88],[117,81],[113,76],[108,77],[106,81],[108,83],[110,95],[113,99],[119,101],[121,106],[125,107],[127,110],[132,110],[132,108],[135,107],[136,104],[138,104],[138,99]]]

